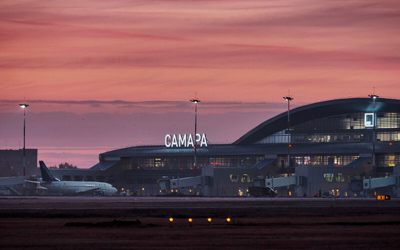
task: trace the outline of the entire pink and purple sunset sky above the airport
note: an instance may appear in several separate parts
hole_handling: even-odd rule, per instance
[[[400,1],[2,0],[0,148],[81,168],[198,130],[231,142],[293,106],[400,96]],[[21,146],[22,147],[22,144]]]

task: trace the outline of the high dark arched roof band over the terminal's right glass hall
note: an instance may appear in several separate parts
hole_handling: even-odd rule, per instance
[[[290,110],[290,126],[309,120],[332,115],[357,112],[373,112],[371,98],[341,98],[315,102],[299,106]],[[375,112],[400,112],[400,99],[377,98],[375,99]],[[234,145],[247,145],[258,141],[275,132],[287,128],[287,111],[282,112],[258,126],[254,127],[239,139]]]

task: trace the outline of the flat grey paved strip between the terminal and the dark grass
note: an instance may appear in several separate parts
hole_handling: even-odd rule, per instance
[[[122,208],[251,208],[251,207],[400,207],[400,198],[306,197],[135,197],[135,196],[1,196],[8,209],[122,209]]]

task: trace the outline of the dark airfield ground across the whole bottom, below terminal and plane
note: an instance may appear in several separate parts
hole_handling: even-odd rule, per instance
[[[400,199],[0,197],[0,229],[1,249],[398,249]]]

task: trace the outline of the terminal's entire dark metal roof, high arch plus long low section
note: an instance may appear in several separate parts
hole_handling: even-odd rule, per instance
[[[356,112],[372,112],[372,101],[368,97],[340,98],[315,102],[290,110],[290,125],[297,125],[317,118]],[[399,112],[400,99],[377,98],[376,112]],[[197,155],[257,155],[285,154],[287,143],[253,144],[257,140],[287,127],[287,111],[282,112],[254,127],[231,144],[208,144],[207,147],[197,147]],[[291,154],[358,154],[369,153],[372,143],[366,142],[323,142],[323,143],[291,143]],[[376,142],[377,153],[399,152],[400,143]],[[171,148],[165,145],[139,145],[103,152],[103,157],[132,156],[186,156],[194,153],[191,147]],[[98,164],[100,164],[100,161]],[[111,161],[106,161],[112,163]],[[108,164],[107,163],[107,164]],[[94,165],[92,169],[105,169],[109,166]],[[105,168],[103,168],[105,167]]]

